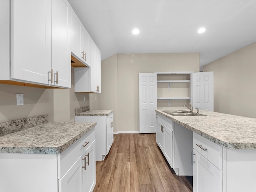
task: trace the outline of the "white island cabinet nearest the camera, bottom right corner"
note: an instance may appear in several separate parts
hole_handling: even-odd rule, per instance
[[[256,191],[255,149],[227,149],[193,133],[193,192]]]

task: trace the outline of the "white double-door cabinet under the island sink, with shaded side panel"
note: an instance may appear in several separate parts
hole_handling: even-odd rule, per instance
[[[193,132],[157,114],[156,142],[177,175],[193,175]]]

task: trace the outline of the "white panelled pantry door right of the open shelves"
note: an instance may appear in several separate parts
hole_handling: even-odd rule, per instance
[[[213,111],[213,72],[192,74],[192,105],[202,110]]]

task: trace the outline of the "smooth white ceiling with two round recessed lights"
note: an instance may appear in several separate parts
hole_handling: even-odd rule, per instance
[[[256,0],[69,0],[104,60],[199,52],[200,67],[256,42]],[[205,27],[206,32],[197,30]],[[132,34],[138,28],[140,34]]]

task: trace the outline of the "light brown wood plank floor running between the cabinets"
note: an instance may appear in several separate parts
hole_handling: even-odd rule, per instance
[[[94,192],[192,192],[191,177],[176,176],[156,134],[118,134],[104,161],[96,161]]]

